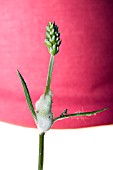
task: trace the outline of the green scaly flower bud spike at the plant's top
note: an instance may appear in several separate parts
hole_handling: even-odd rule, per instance
[[[55,22],[49,22],[48,26],[46,27],[45,44],[51,55],[54,56],[59,52],[59,46],[61,44],[60,32],[58,30],[58,26],[55,25]]]

